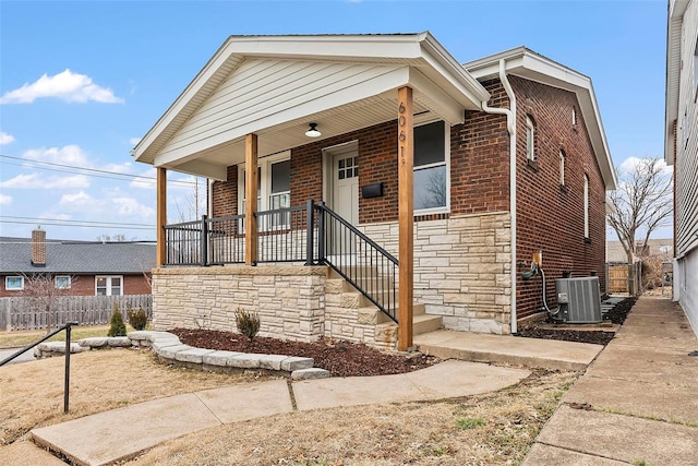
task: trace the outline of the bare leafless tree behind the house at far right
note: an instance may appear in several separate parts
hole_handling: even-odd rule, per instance
[[[638,239],[647,246],[652,232],[672,216],[672,177],[660,158],[642,158],[618,178],[618,189],[609,195],[607,220],[631,264],[639,255]]]

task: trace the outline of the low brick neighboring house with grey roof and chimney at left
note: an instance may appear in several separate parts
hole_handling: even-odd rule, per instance
[[[70,296],[149,295],[155,244],[0,238],[0,297],[22,296],[26,278],[46,274]]]

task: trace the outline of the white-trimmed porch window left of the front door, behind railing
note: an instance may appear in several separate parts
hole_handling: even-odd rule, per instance
[[[238,199],[239,213],[244,214],[246,170],[244,164],[238,166]],[[288,208],[291,206],[291,159],[290,153],[265,157],[257,163],[257,212]],[[278,217],[278,218],[277,218]],[[288,214],[274,216],[260,229],[286,227],[289,224]]]

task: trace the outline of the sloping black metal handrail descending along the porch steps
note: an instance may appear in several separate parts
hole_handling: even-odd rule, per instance
[[[315,210],[321,260],[397,322],[398,260],[324,203]]]

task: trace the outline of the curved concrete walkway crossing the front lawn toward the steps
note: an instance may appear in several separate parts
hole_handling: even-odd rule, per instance
[[[292,410],[468,396],[514,385],[529,374],[525,369],[449,360],[397,375],[273,380],[140,403],[35,429],[32,437],[75,464],[104,465],[225,423]]]

